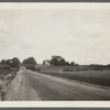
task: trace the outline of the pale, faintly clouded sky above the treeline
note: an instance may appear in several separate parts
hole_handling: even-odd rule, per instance
[[[110,9],[0,9],[0,59],[52,55],[110,64]]]

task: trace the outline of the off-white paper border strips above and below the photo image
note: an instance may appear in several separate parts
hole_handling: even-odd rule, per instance
[[[0,9],[110,9],[110,3],[6,2]],[[0,108],[110,108],[110,101],[1,101]]]

